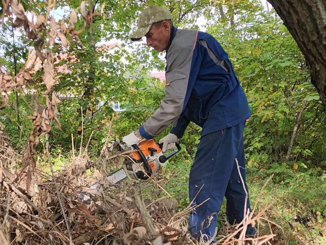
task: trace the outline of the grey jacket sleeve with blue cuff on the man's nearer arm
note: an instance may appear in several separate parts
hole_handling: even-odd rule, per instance
[[[169,50],[166,71],[166,98],[155,114],[140,127],[144,138],[153,138],[164,131],[182,112],[193,58],[190,47],[174,47]]]

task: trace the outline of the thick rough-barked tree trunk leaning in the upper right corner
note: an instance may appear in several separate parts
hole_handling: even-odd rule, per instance
[[[304,54],[326,109],[326,1],[268,0]]]

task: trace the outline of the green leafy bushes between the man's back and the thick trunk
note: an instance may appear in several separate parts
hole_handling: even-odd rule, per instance
[[[208,32],[227,50],[248,96],[252,110],[245,132],[249,166],[266,167],[284,159],[305,100],[309,104],[291,159],[309,167],[319,164],[325,115],[292,36],[273,12],[260,8],[255,14],[244,10],[232,29],[222,27],[223,23],[217,23]]]

